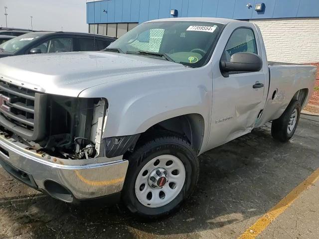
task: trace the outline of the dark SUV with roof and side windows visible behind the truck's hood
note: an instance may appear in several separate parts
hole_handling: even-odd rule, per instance
[[[77,32],[29,32],[0,44],[0,58],[35,53],[99,51],[116,38]]]

